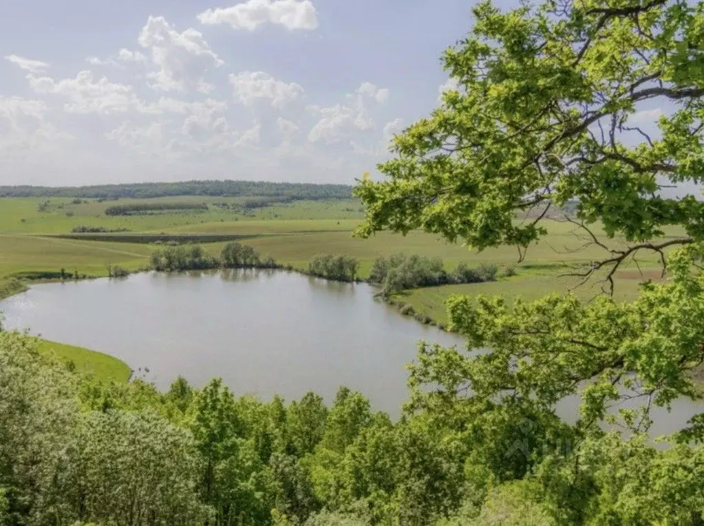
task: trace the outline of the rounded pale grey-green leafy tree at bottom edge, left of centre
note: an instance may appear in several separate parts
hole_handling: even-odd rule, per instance
[[[59,484],[66,518],[115,524],[202,522],[191,435],[153,412],[87,413]]]

